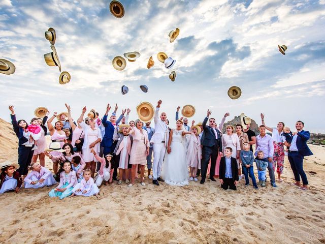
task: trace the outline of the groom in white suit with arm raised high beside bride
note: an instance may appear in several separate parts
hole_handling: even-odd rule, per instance
[[[166,152],[167,135],[169,133],[168,125],[166,124],[167,115],[165,112],[160,114],[159,119],[159,108],[162,101],[159,100],[156,111],[154,113],[154,134],[151,137],[150,142],[153,143],[153,166],[152,166],[152,184],[159,186],[158,181],[164,181],[160,178],[161,166]]]

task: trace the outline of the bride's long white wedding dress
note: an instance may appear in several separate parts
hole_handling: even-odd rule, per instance
[[[166,151],[161,172],[161,177],[168,185],[172,186],[188,185],[185,138],[182,136],[182,132],[183,130],[173,129],[172,151],[170,154]]]

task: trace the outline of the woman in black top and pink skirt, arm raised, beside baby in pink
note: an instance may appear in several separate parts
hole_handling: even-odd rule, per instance
[[[38,118],[39,120],[39,125],[41,126],[42,130],[41,130],[41,137],[40,139],[37,141],[37,149],[34,150],[34,155],[32,156],[31,162],[32,163],[36,163],[37,159],[40,159],[40,165],[42,167],[45,167],[45,155],[44,155],[44,150],[46,147],[46,140],[45,140],[45,136],[47,134],[47,128],[45,127],[45,123],[46,120],[48,118],[49,115],[49,111],[46,112],[46,115],[44,116],[44,118]]]

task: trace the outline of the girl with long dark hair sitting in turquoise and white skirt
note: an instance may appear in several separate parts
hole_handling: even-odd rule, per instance
[[[76,172],[72,170],[71,162],[66,161],[60,168],[60,184],[49,192],[50,197],[69,197],[72,194],[73,188],[77,185],[78,180]]]

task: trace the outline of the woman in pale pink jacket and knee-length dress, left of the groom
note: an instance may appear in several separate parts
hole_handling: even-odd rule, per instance
[[[140,167],[140,181],[141,186],[145,186],[144,183],[144,167],[147,164],[147,156],[149,155],[150,142],[148,139],[148,133],[142,129],[143,123],[140,119],[135,121],[135,127],[133,129],[128,128],[128,133],[133,137],[133,145],[131,148],[130,164],[131,169],[131,183],[128,187],[134,185],[134,179],[137,173],[137,165]]]

